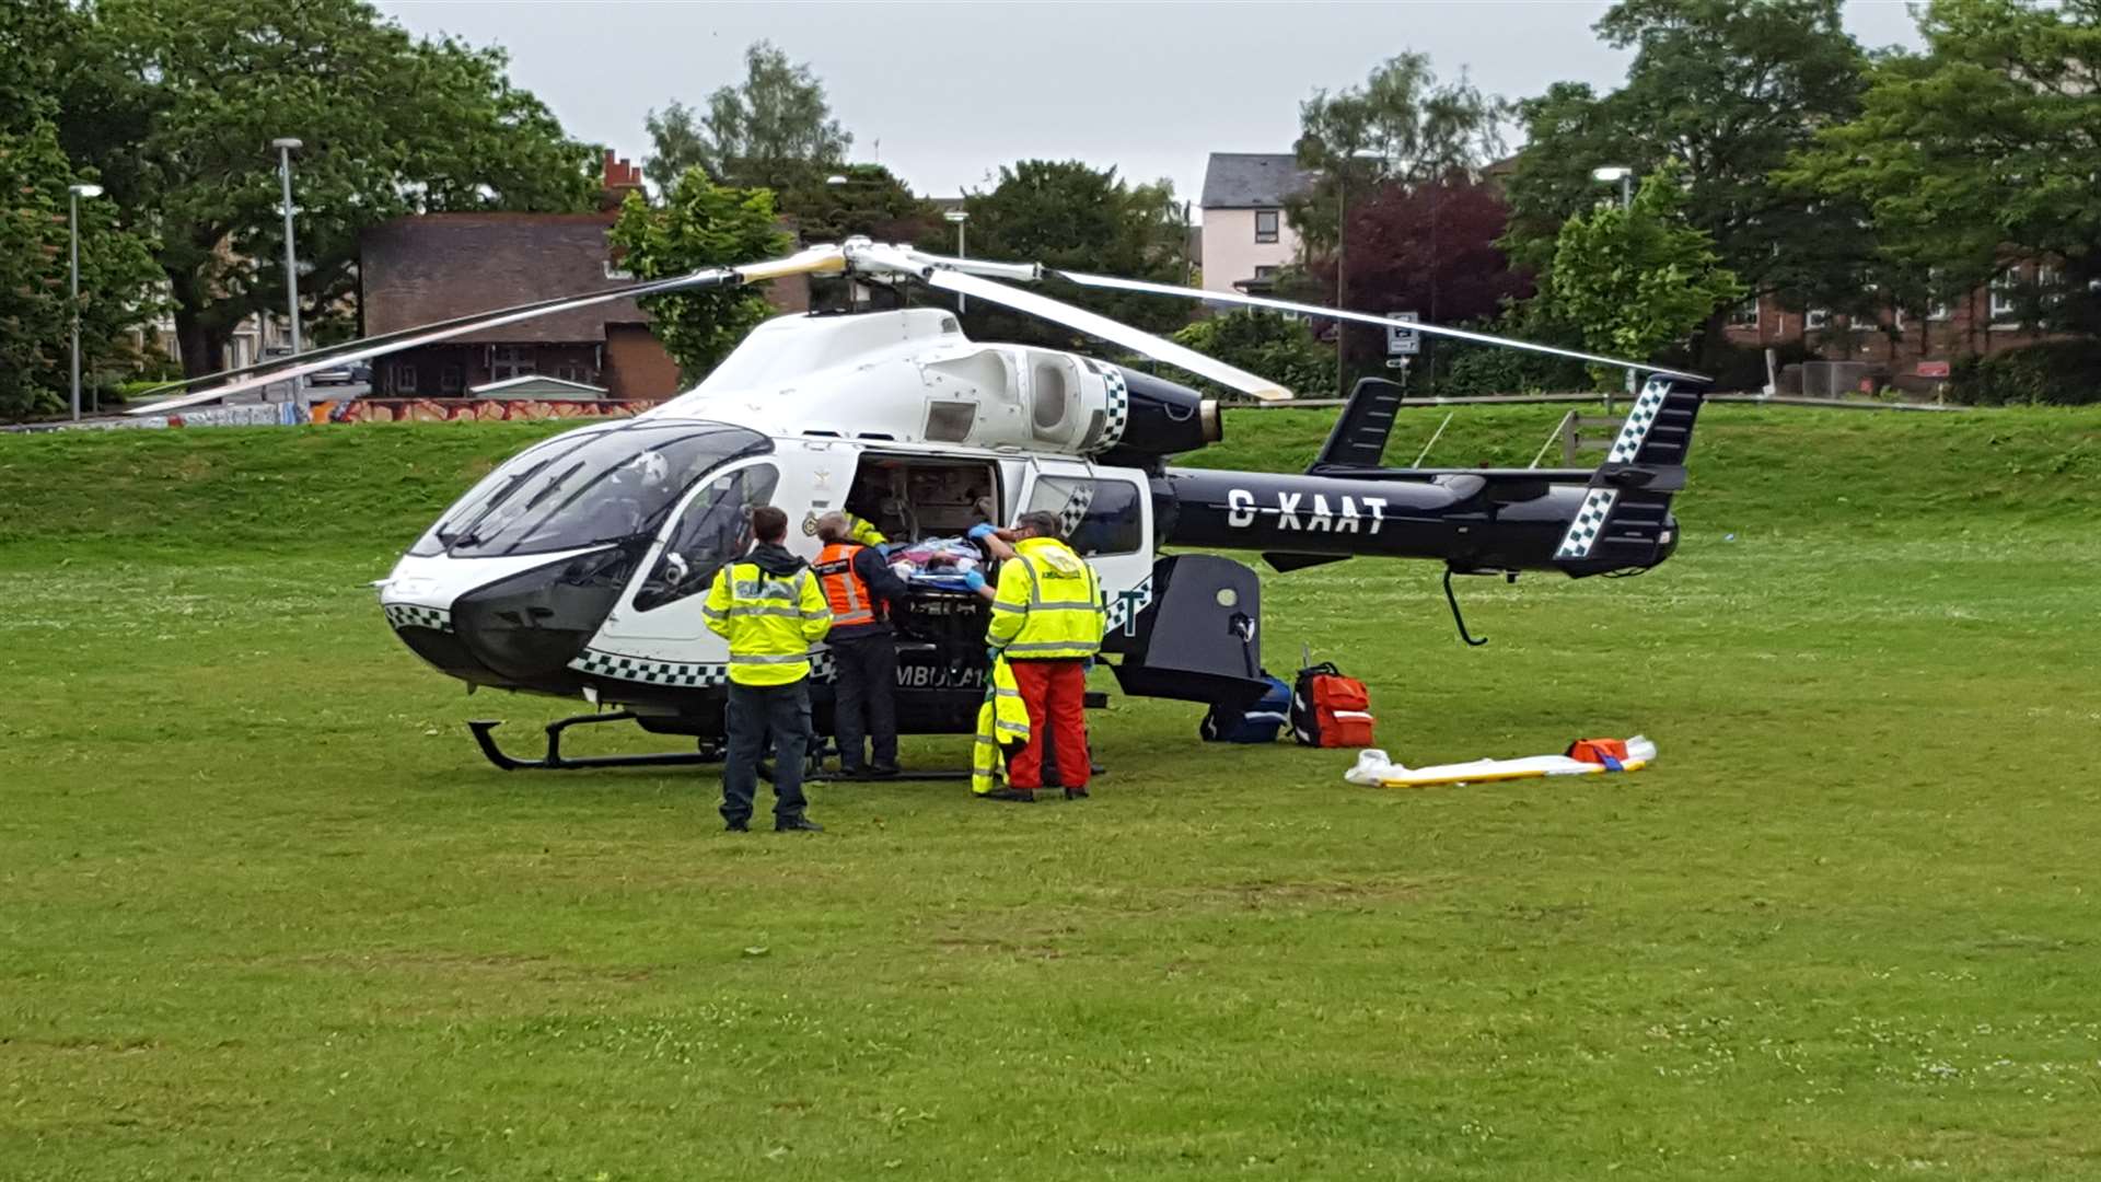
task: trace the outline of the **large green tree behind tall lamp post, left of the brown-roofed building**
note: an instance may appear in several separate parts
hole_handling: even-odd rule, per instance
[[[597,149],[504,76],[504,55],[414,40],[359,0],[101,0],[65,69],[61,141],[151,210],[183,366],[284,307],[275,137],[298,137],[303,315],[355,290],[366,227],[410,212],[580,210]]]

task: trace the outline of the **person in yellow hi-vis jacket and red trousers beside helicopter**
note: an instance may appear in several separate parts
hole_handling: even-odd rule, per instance
[[[971,589],[992,599],[985,644],[994,660],[1013,665],[1029,715],[1029,745],[1006,763],[1006,789],[994,799],[1034,799],[1034,789],[1063,787],[1084,797],[1090,772],[1086,751],[1086,669],[1101,650],[1103,612],[1095,570],[1061,541],[1057,513],[1023,513],[1013,530],[1015,557],[1000,564],[992,587],[971,572]],[[1059,784],[1044,784],[1044,749],[1059,768]]]

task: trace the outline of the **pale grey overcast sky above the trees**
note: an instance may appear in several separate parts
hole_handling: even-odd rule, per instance
[[[744,46],[769,38],[824,80],[853,133],[853,160],[920,193],[983,185],[1000,164],[1080,158],[1126,177],[1168,177],[1195,198],[1210,151],[1290,151],[1298,103],[1364,80],[1378,61],[1431,55],[1519,99],[1569,78],[1609,88],[1628,55],[1590,23],[1588,0],[1376,4],[710,4],[679,0],[380,0],[418,34],[511,53],[511,78],[569,135],[641,162],[643,116],[700,105],[744,78]],[[1853,0],[1868,46],[1916,44],[1901,0]]]

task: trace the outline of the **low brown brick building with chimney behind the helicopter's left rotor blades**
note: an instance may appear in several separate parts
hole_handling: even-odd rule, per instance
[[[620,202],[641,191],[641,168],[605,154],[597,212],[441,212],[395,219],[359,242],[366,332],[382,334],[477,311],[632,284],[605,233]],[[803,278],[775,280],[767,299],[809,309]],[[603,387],[607,398],[660,400],[679,391],[679,366],[632,299],[540,315],[372,364],[376,395],[466,395],[471,387],[544,374]]]

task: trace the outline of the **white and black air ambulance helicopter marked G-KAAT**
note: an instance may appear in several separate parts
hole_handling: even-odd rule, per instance
[[[786,259],[550,299],[351,341],[296,364],[229,370],[202,393],[143,406],[176,410],[397,349],[592,303],[765,280],[855,282],[1004,305],[1086,332],[1164,366],[1258,398],[1288,391],[1172,341],[1011,286],[1061,276],[1093,288],[1269,307],[1387,326],[1370,313],[1288,301],[948,259],[861,238]],[[1002,282],[1004,280],[1004,282]],[[777,505],[790,549],[817,551],[815,522],[843,509],[891,538],[954,536],[987,509],[1008,522],[1048,509],[1101,574],[1118,688],[1135,696],[1248,705],[1263,692],[1261,583],[1248,566],[1164,547],[1258,551],[1288,572],[1347,557],[1416,557],[1454,574],[1647,570],[1677,549],[1670,498],[1706,379],[1445,328],[1420,332],[1536,349],[1645,374],[1597,469],[1387,469],[1399,387],[1366,379],[1301,475],[1195,471],[1168,456],[1221,437],[1219,406],[1198,391],[1095,358],[969,341],[941,307],[792,313],[765,322],[698,387],[635,419],[565,431],[502,463],[460,496],[378,580],[395,633],[441,673],[487,686],[582,698],[599,713],[548,726],[540,759],[504,755],[494,721],[471,721],[500,768],[588,768],[716,759],[727,650],[702,625],[700,597],[750,543],[756,505]],[[210,381],[210,379],[191,379]],[[966,734],[985,679],[983,604],[927,593],[901,612],[897,717],[906,734]],[[819,650],[813,702],[830,732]],[[561,732],[635,721],[698,736],[700,751],[563,757]]]

